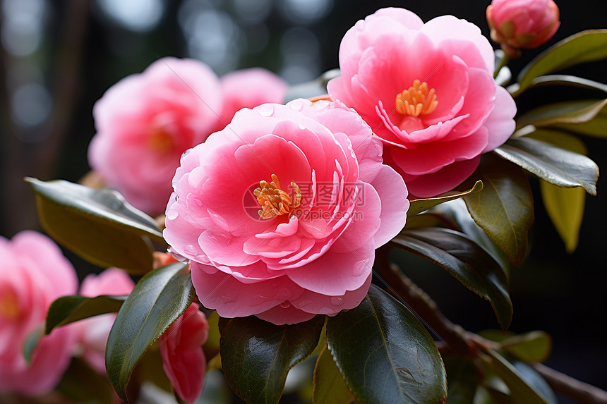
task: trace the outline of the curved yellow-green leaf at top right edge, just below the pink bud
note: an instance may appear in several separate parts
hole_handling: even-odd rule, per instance
[[[578,32],[536,56],[519,74],[519,85],[524,90],[534,78],[541,75],[606,58],[607,30]]]

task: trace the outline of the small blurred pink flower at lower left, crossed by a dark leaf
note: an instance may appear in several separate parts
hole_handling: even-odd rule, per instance
[[[85,276],[80,286],[80,295],[89,298],[99,295],[128,295],[134,287],[135,283],[126,272],[108,268],[99,275]],[[80,330],[83,357],[101,374],[105,374],[105,345],[114,319],[116,314],[101,314],[75,324]]]

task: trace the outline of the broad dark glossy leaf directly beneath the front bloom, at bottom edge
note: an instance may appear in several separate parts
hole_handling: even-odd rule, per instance
[[[327,346],[361,403],[444,403],[443,360],[415,314],[375,285],[327,320]]]

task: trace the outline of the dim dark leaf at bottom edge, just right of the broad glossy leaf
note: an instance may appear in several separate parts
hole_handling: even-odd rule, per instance
[[[471,404],[479,386],[479,369],[467,357],[445,357],[449,394],[446,404]]]

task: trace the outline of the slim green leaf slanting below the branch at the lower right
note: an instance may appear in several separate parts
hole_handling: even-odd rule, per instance
[[[481,360],[505,381],[515,403],[550,404],[537,388],[529,384],[522,374],[497,351],[488,350],[487,355],[481,355]]]

